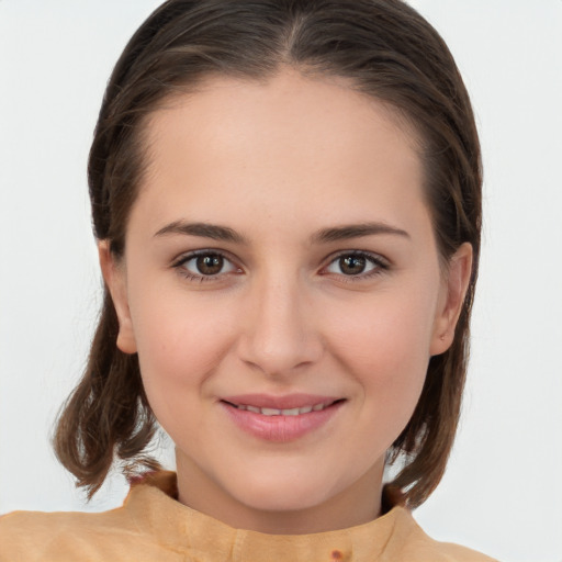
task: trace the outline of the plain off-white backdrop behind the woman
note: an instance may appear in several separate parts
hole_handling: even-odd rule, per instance
[[[48,438],[100,304],[86,160],[103,89],[158,0],[0,0],[0,514],[86,505]],[[473,353],[426,531],[562,561],[562,1],[412,0],[465,78],[484,154]],[[170,451],[162,456],[170,458]]]

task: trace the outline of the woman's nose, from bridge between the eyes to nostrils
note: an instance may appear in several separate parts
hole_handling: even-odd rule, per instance
[[[271,274],[246,295],[239,358],[267,375],[283,376],[318,361],[323,353],[312,299],[296,279]]]

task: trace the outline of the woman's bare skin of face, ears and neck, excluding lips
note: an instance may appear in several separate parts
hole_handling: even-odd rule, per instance
[[[117,345],[138,353],[176,443],[180,502],[272,533],[372,520],[385,451],[429,358],[451,344],[471,269],[468,244],[440,266],[413,133],[345,81],[294,70],[213,78],[155,111],[146,132],[124,257],[102,241],[100,261]],[[373,223],[401,233],[318,236]],[[220,272],[203,276],[196,250],[224,254]],[[367,257],[345,269],[353,251]],[[246,393],[342,403],[318,429],[272,442],[225,415],[221,400]]]

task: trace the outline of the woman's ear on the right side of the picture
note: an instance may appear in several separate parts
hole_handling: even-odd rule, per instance
[[[451,347],[454,339],[454,328],[464,304],[471,273],[472,246],[467,241],[459,247],[449,260],[434,323],[430,346],[431,356],[443,353]]]

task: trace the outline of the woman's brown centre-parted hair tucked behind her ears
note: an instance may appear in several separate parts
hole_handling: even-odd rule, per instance
[[[472,278],[451,348],[429,362],[425,386],[391,462],[392,482],[411,507],[439,483],[457,430],[469,353],[481,231],[481,158],[474,117],[449,49],[400,0],[169,0],[130,41],[109,81],[90,151],[93,228],[123,254],[127,217],[140,182],[143,126],[169,95],[202,79],[265,79],[281,65],[349,79],[384,101],[420,138],[426,195],[443,263],[469,241]],[[60,462],[93,495],[115,459],[157,468],[146,456],[156,420],[136,355],[115,345],[119,324],[105,290],[82,380],[55,435]]]

